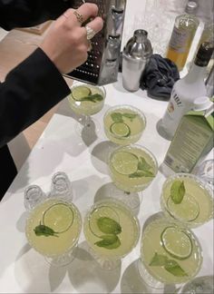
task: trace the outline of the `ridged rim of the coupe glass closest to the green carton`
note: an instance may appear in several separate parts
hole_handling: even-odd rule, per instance
[[[177,220],[177,221],[180,221],[181,223],[187,225],[187,226],[190,226],[191,228],[196,228],[196,227],[199,227],[200,225],[202,225],[203,223],[206,223],[208,222],[209,220],[211,220],[214,216],[214,211],[211,211],[211,214],[208,218],[208,220],[206,220],[205,222],[194,222],[193,220],[193,223],[191,224],[190,221],[185,221],[185,220],[182,220],[180,218],[176,218],[174,217],[173,215],[171,215],[169,209],[168,209],[168,206],[167,206],[167,203],[164,199],[164,189],[165,187],[172,181],[176,180],[176,179],[182,179],[182,178],[190,178],[191,180],[197,182],[199,184],[199,187],[208,191],[209,192],[209,195],[211,196],[211,199],[213,200],[213,193],[211,191],[211,188],[209,186],[209,183],[205,182],[205,181],[202,181],[199,176],[195,175],[195,174],[191,174],[191,173],[187,173],[187,172],[178,172],[178,173],[174,173],[172,175],[170,175],[164,182],[163,182],[163,185],[162,185],[162,188],[161,188],[161,192],[160,192],[160,207],[162,208],[162,211],[164,212],[165,216],[167,218],[169,218],[170,220]],[[169,214],[166,214],[165,213],[165,210],[169,212]]]

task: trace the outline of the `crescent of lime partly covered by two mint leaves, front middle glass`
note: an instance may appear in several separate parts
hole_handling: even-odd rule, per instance
[[[112,207],[103,205],[102,207],[94,209],[94,211],[92,211],[89,216],[89,228],[92,231],[92,234],[99,238],[103,234],[98,226],[98,220],[100,220],[101,218],[110,218],[112,220],[120,222],[120,217],[117,211],[115,211]]]

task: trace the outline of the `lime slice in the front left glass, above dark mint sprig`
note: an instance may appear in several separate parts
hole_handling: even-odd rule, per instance
[[[73,210],[64,203],[53,204],[44,211],[43,223],[55,233],[63,233],[73,225]]]

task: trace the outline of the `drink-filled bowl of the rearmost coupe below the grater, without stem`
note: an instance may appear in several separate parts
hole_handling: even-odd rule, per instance
[[[74,82],[68,101],[74,113],[92,115],[102,110],[105,90],[101,86]]]

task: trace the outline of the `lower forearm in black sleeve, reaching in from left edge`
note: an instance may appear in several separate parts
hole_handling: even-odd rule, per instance
[[[69,93],[62,74],[36,49],[0,83],[0,147]]]

